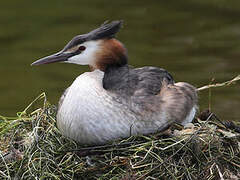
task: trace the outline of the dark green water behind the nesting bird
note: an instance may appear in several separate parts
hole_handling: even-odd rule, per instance
[[[197,87],[240,74],[238,0],[11,0],[0,6],[0,114],[13,116],[46,92],[56,104],[63,90],[87,67],[31,67],[59,51],[75,35],[105,20],[123,19],[118,34],[130,64],[159,66],[176,81]],[[240,83],[201,92],[200,109],[211,104],[220,118],[240,119]]]

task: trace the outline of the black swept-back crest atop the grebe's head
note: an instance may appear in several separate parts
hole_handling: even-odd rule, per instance
[[[70,49],[78,44],[84,43],[85,41],[113,38],[114,35],[120,30],[122,21],[112,21],[110,23],[105,22],[99,28],[93,31],[75,36],[64,48],[63,51]]]

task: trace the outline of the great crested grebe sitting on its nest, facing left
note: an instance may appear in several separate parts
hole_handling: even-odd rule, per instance
[[[67,62],[89,65],[59,101],[57,126],[63,135],[86,145],[185,125],[197,111],[196,89],[175,83],[158,67],[132,68],[127,50],[114,38],[121,21],[74,37],[60,52],[32,65]]]

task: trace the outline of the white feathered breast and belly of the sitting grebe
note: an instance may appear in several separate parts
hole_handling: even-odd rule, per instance
[[[86,72],[68,88],[57,113],[58,128],[65,136],[81,144],[103,144],[168,125],[162,118],[144,119],[131,110],[133,104],[116,100],[103,89],[103,75],[100,70]]]

